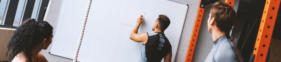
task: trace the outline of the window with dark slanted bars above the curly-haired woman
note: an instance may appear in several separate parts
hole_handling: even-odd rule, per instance
[[[0,27],[18,27],[23,20],[41,20],[49,0],[0,0]],[[9,5],[13,4],[13,5]],[[16,10],[16,11],[15,11]]]

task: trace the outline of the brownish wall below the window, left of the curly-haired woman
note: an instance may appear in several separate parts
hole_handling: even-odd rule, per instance
[[[7,44],[15,29],[0,28],[0,61],[4,61],[7,51]]]

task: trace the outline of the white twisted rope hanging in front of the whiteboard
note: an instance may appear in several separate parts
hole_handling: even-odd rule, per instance
[[[81,33],[80,33],[80,38],[79,38],[79,41],[78,41],[78,44],[77,44],[77,47],[76,47],[76,51],[75,51],[75,55],[74,55],[74,58],[73,58],[73,62],[77,61],[77,57],[78,57],[79,49],[80,49],[80,46],[81,46],[81,43],[82,43],[82,40],[83,40],[84,30],[85,30],[87,18],[88,18],[88,15],[89,15],[91,3],[92,3],[92,0],[89,0],[88,6],[87,6],[87,9],[86,9],[86,14],[85,14],[84,21],[83,21],[83,25],[82,25],[82,29],[81,29]]]

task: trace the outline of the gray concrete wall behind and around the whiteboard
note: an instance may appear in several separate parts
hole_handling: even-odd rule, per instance
[[[172,0],[172,1],[181,2],[181,3],[185,3],[185,4],[189,5],[187,14],[185,17],[185,23],[183,26],[182,34],[180,37],[180,42],[179,42],[176,58],[175,58],[175,62],[184,62],[185,56],[187,53],[186,50],[187,50],[189,42],[190,42],[190,36],[192,33],[192,29],[193,29],[193,25],[195,22],[198,6],[200,4],[200,0]],[[237,2],[239,2],[239,0],[235,0],[234,10],[237,10],[237,7],[238,7]],[[59,15],[61,6],[62,6],[62,0],[52,0],[49,14],[47,16],[47,22],[49,22],[54,27],[54,29],[57,26],[57,20],[58,20],[58,15]],[[207,24],[206,21],[209,17],[207,15],[210,13],[210,11],[209,11],[210,7],[212,7],[212,5],[209,5],[206,7],[205,14],[203,15],[204,18],[201,23],[201,28],[200,28],[199,37],[198,37],[198,39],[201,39],[201,40],[198,40],[196,43],[195,53],[194,53],[194,57],[193,57],[193,61],[195,61],[195,62],[204,61],[213,44],[211,41],[211,34],[207,31],[207,26],[206,26],[206,24]],[[49,60],[50,62],[59,62],[59,61],[71,62],[72,61],[71,59],[67,59],[64,57],[56,56],[56,55],[51,55],[48,53],[49,50],[50,50],[50,47],[47,50],[42,50],[41,52],[47,58],[47,60]]]

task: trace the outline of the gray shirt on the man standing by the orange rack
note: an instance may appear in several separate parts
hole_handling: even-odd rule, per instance
[[[205,62],[244,62],[236,45],[230,42],[225,35],[213,43],[213,48]]]

